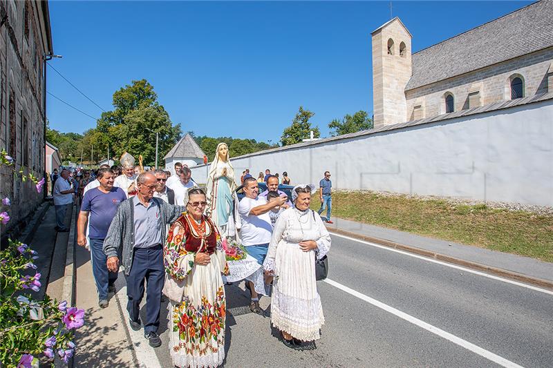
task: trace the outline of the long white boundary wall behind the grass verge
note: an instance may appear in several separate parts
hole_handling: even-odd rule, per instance
[[[292,184],[553,206],[553,100],[232,159]],[[191,168],[205,183],[205,165]]]

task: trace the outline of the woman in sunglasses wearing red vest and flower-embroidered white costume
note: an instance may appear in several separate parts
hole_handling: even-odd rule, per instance
[[[203,215],[205,193],[188,191],[187,212],[171,226],[165,271],[182,287],[169,304],[169,350],[176,367],[217,367],[225,358],[225,253],[216,226]]]

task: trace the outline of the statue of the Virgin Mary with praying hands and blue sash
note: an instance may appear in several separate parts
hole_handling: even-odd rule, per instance
[[[238,197],[235,190],[236,182],[234,168],[230,163],[229,148],[222,142],[217,145],[207,176],[205,214],[211,217],[224,237],[236,236],[235,216],[238,216]]]

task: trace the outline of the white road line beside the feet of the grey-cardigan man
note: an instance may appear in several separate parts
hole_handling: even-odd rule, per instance
[[[131,329],[129,314],[126,311],[126,302],[129,300],[126,298],[126,282],[124,279],[123,273],[120,272],[118,279],[115,281],[118,289],[118,292],[115,293],[115,299],[118,301],[122,315],[125,316],[123,318],[123,323],[126,331],[129,332],[129,336],[131,336],[131,344],[133,345],[134,352],[136,354],[136,360],[138,360],[138,367],[161,368],[158,356],[156,356],[156,351],[154,351],[153,347],[149,345],[148,340],[144,338],[144,330],[140,329],[139,331],[134,331]]]

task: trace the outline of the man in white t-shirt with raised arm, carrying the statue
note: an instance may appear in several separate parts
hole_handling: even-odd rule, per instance
[[[243,188],[245,197],[238,204],[238,213],[242,222],[240,239],[242,245],[247,247],[247,253],[255,258],[259,264],[263,264],[272,235],[269,211],[277,206],[282,206],[286,202],[286,198],[272,198],[270,202],[267,202],[265,197],[258,196],[259,186],[257,180],[253,177],[247,177],[244,180]],[[250,310],[254,313],[260,313],[259,298],[251,281],[250,292],[252,293]]]

